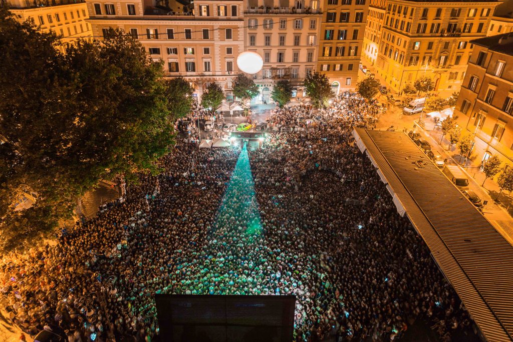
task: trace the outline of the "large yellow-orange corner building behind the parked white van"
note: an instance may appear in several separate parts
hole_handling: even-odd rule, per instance
[[[433,91],[449,96],[461,87],[470,40],[486,36],[497,2],[388,0],[378,49],[377,71],[400,92],[421,76]]]

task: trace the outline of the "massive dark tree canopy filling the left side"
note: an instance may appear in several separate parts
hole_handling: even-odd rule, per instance
[[[0,9],[3,246],[51,231],[100,179],[156,172],[173,143],[161,63],[121,31],[65,47]],[[23,192],[39,199],[13,211]]]

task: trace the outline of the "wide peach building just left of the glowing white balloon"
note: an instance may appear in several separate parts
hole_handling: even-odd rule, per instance
[[[94,36],[123,29],[154,61],[164,61],[167,77],[187,79],[196,97],[215,82],[232,98],[236,59],[244,49],[242,0],[87,0],[87,8]]]

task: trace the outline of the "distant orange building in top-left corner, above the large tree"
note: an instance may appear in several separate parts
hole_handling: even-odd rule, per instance
[[[32,20],[44,32],[53,31],[66,43],[92,35],[85,1],[81,0],[6,0],[9,10],[24,22]]]

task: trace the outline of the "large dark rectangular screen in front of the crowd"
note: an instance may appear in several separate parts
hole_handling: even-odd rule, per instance
[[[290,342],[295,296],[155,295],[161,340]]]

